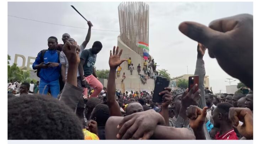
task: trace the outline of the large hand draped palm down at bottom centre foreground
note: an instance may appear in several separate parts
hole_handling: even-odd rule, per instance
[[[165,125],[165,121],[164,118],[154,110],[137,112],[125,116],[117,126],[117,128],[120,128],[117,138],[149,139],[158,124]]]

